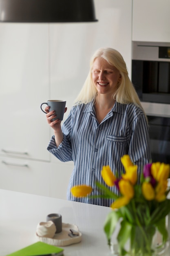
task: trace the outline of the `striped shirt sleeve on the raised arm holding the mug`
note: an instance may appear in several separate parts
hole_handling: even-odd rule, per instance
[[[51,137],[47,150],[62,162],[72,161],[71,130],[73,123],[73,111],[71,110],[62,126],[63,141],[56,146],[54,135]]]

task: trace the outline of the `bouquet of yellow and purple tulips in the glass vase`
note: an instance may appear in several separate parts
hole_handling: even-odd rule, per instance
[[[137,184],[137,165],[134,165],[128,155],[121,157],[125,173],[121,178],[110,170],[109,166],[103,166],[102,178],[108,186],[116,186],[119,195],[116,195],[103,184],[97,182],[97,187],[105,198],[113,198],[110,207],[113,209],[105,221],[104,231],[111,244],[111,238],[117,222],[120,223],[117,235],[119,254],[131,256],[152,256],[155,248],[152,247],[155,232],[158,230],[161,236],[161,245],[165,247],[168,241],[166,228],[166,216],[170,212],[170,199],[167,198],[168,177],[170,177],[170,165],[156,162],[146,164]],[[71,188],[75,197],[93,197],[89,195],[91,186],[79,185]],[[126,244],[129,241],[129,249]],[[156,254],[154,254],[156,255]]]

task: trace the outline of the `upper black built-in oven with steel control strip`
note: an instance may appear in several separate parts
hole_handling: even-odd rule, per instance
[[[132,83],[140,100],[170,104],[170,43],[132,46]]]

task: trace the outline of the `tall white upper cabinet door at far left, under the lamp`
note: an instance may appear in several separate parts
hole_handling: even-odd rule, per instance
[[[0,24],[0,155],[49,161],[47,24]]]

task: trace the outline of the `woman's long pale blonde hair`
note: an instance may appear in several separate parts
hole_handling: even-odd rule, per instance
[[[98,57],[104,58],[110,65],[115,66],[121,74],[121,81],[118,83],[117,90],[113,95],[113,99],[122,104],[134,103],[135,105],[140,106],[143,110],[137,92],[129,79],[124,58],[117,50],[112,48],[100,48],[92,56],[88,76],[82,90],[75,99],[74,105],[79,105],[81,103],[87,104],[88,102],[95,100],[97,90],[92,80],[92,69],[93,63]]]

